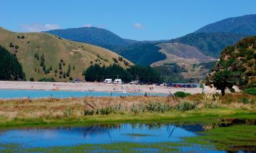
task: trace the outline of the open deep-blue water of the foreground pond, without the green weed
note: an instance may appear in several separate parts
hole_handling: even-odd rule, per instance
[[[179,142],[182,137],[195,137],[203,131],[201,125],[177,126],[174,124],[109,124],[51,129],[14,129],[0,132],[0,143],[19,143],[27,148],[75,146],[83,143],[115,142]],[[143,136],[142,136],[143,135]],[[219,152],[211,149],[181,147],[182,152]],[[1,151],[1,148],[0,148]]]

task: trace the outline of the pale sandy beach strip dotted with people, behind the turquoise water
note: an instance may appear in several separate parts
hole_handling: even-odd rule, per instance
[[[107,92],[154,92],[174,93],[177,91],[190,92],[191,94],[201,93],[201,88],[169,88],[155,85],[133,85],[133,84],[104,84],[96,82],[10,82],[0,81],[0,89],[16,90],[81,90],[81,91],[107,91]]]

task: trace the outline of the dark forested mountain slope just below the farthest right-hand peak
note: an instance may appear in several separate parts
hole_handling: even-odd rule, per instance
[[[183,37],[171,39],[170,42],[194,46],[206,56],[218,58],[221,50],[235,44],[243,37],[245,36],[234,33],[190,33]]]

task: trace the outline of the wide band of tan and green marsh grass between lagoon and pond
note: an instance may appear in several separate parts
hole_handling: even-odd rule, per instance
[[[238,112],[250,114],[256,110],[255,103],[251,102],[256,99],[253,95],[240,93],[229,97],[204,97],[206,95],[197,94],[175,100],[171,97],[0,100],[0,126],[170,120],[195,116],[229,116]],[[250,103],[240,103],[242,97],[246,97]],[[213,103],[218,107],[212,107]]]

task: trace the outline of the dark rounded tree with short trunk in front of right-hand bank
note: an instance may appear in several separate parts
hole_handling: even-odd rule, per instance
[[[240,61],[230,59],[221,60],[216,63],[206,80],[206,85],[213,84],[218,90],[221,90],[221,95],[225,95],[226,88],[232,88],[234,85],[244,83],[243,67]]]

